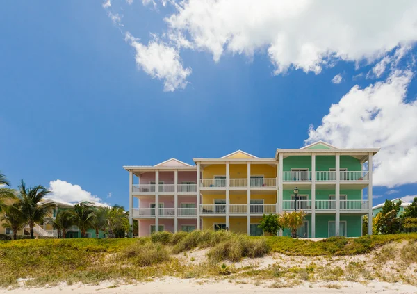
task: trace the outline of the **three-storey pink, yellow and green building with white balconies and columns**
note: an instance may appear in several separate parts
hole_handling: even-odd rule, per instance
[[[139,236],[226,228],[260,236],[263,214],[302,210],[307,215],[300,237],[361,236],[362,216],[372,218],[373,155],[378,151],[339,149],[320,141],[277,149],[271,158],[238,150],[221,158],[193,158],[194,165],[171,158],[154,166],[124,166],[130,221],[138,220]]]

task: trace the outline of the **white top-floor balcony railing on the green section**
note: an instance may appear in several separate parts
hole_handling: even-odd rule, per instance
[[[312,172],[283,172],[282,179],[284,182],[306,182],[311,181]],[[368,171],[341,171],[340,181],[341,182],[352,182],[352,181],[368,181]],[[323,171],[316,172],[316,182],[336,182],[336,172],[334,171]]]

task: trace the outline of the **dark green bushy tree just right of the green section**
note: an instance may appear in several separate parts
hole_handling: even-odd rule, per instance
[[[398,213],[401,208],[401,200],[393,203],[386,200],[382,211],[375,215],[375,233],[376,234],[395,234],[400,230],[400,218]]]

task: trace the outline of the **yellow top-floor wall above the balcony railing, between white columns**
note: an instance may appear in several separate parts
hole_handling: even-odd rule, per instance
[[[277,177],[277,166],[268,164],[251,164],[250,174],[252,176],[263,176],[265,179],[275,179]],[[213,179],[215,176],[226,176],[226,164],[208,165],[202,170],[202,179]],[[247,165],[230,164],[230,179],[247,179]]]

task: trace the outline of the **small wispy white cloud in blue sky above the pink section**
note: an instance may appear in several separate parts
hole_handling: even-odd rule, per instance
[[[151,40],[147,45],[126,33],[126,41],[136,49],[136,63],[144,72],[154,79],[164,81],[165,91],[186,88],[190,67],[184,68],[176,48],[158,39]]]

